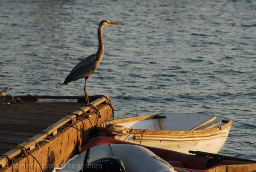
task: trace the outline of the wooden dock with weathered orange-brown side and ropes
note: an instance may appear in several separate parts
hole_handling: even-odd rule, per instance
[[[112,119],[113,104],[104,96],[91,102],[97,107],[93,112],[84,102],[40,102],[38,97],[53,98],[14,96],[26,103],[0,105],[0,172],[51,171],[80,152],[94,135],[93,126]]]

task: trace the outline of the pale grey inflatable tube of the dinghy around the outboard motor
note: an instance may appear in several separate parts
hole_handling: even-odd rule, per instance
[[[79,172],[82,170],[86,152],[75,156],[57,172]],[[88,163],[104,157],[116,157],[124,163],[126,172],[175,172],[168,162],[150,150],[137,145],[106,144],[90,149]]]

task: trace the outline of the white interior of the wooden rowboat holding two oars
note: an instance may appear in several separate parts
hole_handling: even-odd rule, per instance
[[[128,118],[129,119],[129,118]],[[125,126],[127,128],[144,128],[148,130],[192,130],[194,127],[208,121],[204,126],[196,128],[196,130],[218,128],[227,124],[230,120],[222,116],[212,116],[205,114],[184,114],[184,113],[165,113],[159,115],[145,116],[130,118],[129,121],[118,120],[118,125]]]

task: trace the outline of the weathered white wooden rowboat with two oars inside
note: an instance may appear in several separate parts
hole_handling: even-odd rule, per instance
[[[96,126],[98,136],[175,150],[218,153],[232,120],[205,114],[164,113],[111,120]]]

